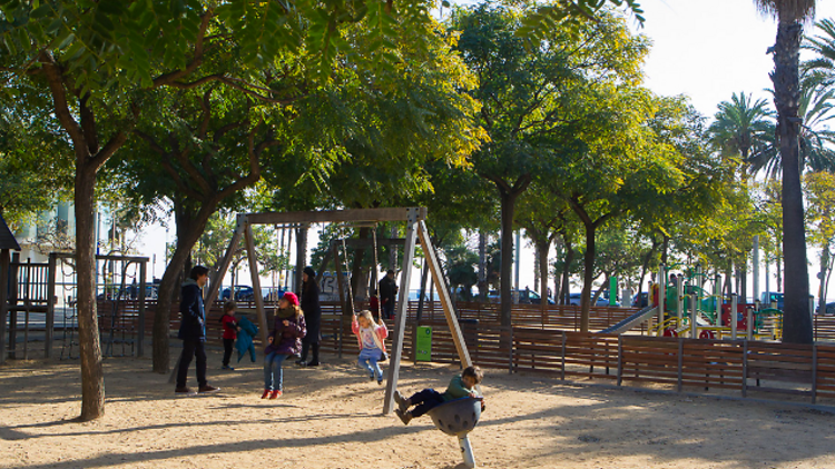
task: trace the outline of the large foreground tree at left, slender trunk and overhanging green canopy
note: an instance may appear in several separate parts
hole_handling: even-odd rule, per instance
[[[272,92],[225,74],[200,73],[216,44],[229,38],[239,46],[235,57],[249,66],[268,64],[303,48],[315,58],[313,74],[327,77],[337,52],[350,50],[350,31],[341,26],[362,20],[369,21],[370,41],[376,44],[369,62],[385,68],[399,60],[389,53],[390,37],[412,33],[420,39],[429,22],[423,3],[409,2],[396,11],[391,2],[363,0],[293,8],[261,1],[14,1],[0,4],[0,11],[2,92],[20,102],[48,96],[51,103],[43,114],[53,119],[75,153],[82,420],[104,415],[94,279],[96,179],[143,110],[155,108],[154,99],[145,99],[148,91],[215,82],[245,93]]]

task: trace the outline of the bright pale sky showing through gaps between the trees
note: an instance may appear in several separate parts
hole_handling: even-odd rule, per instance
[[[766,50],[774,44],[776,22],[757,12],[753,0],[639,0],[646,22],[633,30],[646,34],[652,47],[646,60],[645,86],[660,96],[685,94],[704,116],[711,118],[717,104],[734,92],[753,93],[770,101],[766,91],[774,68]],[[818,2],[816,19],[835,18],[835,2]],[[807,26],[807,31],[814,26]],[[311,236],[313,242],[316,237]],[[173,231],[148,230],[143,239],[144,255],[157,256],[149,268],[161,277],[164,247],[173,241]],[[816,253],[809,251],[812,291],[817,291]],[[521,253],[521,288],[533,288],[533,251]],[[418,276],[413,276],[418,277]],[[765,289],[764,272],[760,291]],[[228,281],[228,280],[227,280]],[[775,287],[772,268],[772,289]],[[749,282],[750,288],[750,282]],[[749,293],[750,295],[750,293]]]

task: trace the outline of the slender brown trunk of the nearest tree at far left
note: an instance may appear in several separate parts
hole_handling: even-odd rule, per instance
[[[105,372],[96,311],[96,170],[86,167],[86,158],[84,154],[76,159],[75,194],[81,421],[105,415]]]

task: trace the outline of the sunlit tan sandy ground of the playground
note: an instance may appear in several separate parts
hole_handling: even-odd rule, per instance
[[[174,349],[176,352],[176,349]],[[147,359],[107,359],[107,415],[80,411],[78,362],[0,367],[0,468],[458,468],[454,438],[429,418],[382,416],[383,387],[353,359],[286,367],[285,396],[261,400],[259,363],[177,397]],[[387,363],[386,363],[387,365]],[[451,367],[405,365],[401,390],[444,388]],[[194,383],[194,371],[189,376]],[[471,433],[484,468],[831,468],[835,416],[806,407],[563,385],[488,370]]]

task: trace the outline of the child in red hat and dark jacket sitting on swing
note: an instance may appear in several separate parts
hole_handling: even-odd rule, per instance
[[[302,338],[307,333],[298,297],[295,293],[284,293],[275,311],[275,326],[269,332],[264,353],[264,393],[262,399],[276,399],[282,395],[284,372],[282,365],[288,357],[302,351]]]

